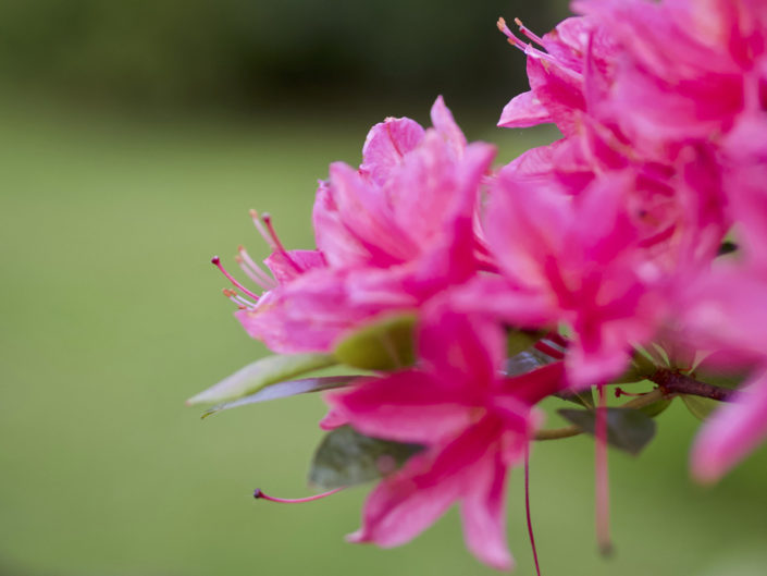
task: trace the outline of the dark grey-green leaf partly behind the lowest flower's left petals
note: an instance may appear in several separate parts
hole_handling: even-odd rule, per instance
[[[421,450],[418,444],[370,438],[342,426],[329,432],[317,449],[309,482],[330,490],[375,480],[392,474]]]

